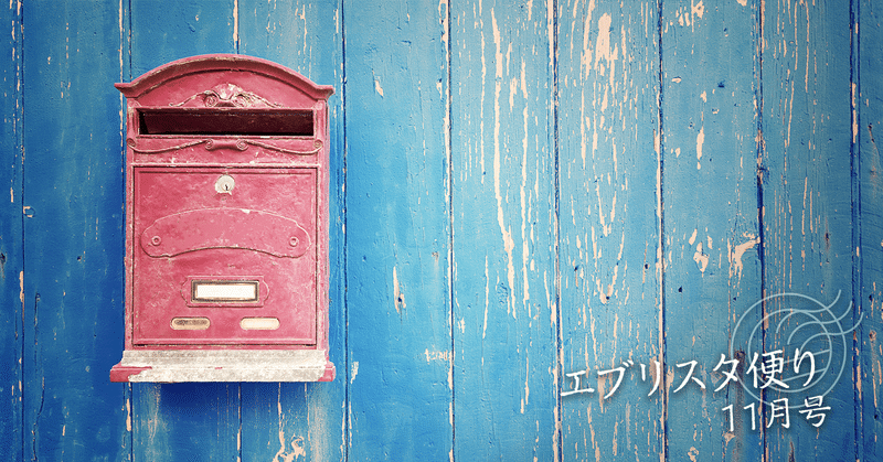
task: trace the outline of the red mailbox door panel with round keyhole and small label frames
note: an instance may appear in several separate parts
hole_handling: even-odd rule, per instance
[[[315,345],[319,172],[132,169],[135,345]]]

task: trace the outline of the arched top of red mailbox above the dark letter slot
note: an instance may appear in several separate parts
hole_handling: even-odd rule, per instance
[[[168,105],[178,106],[188,103],[187,100],[174,101],[174,96],[180,98],[180,95],[175,94],[181,90],[198,92],[194,93],[194,96],[198,94],[209,95],[212,92],[220,93],[222,94],[220,95],[221,103],[225,103],[223,99],[225,96],[235,96],[236,90],[242,90],[246,95],[254,95],[258,100],[268,103],[265,96],[256,94],[255,89],[249,87],[266,88],[267,84],[272,84],[273,80],[283,85],[272,86],[296,89],[312,100],[327,100],[334,93],[334,88],[330,85],[317,85],[288,67],[259,57],[240,54],[206,54],[185,57],[159,66],[131,83],[116,84],[115,86],[129,99],[139,99],[153,90],[166,89],[160,93],[171,98]],[[195,82],[202,83],[202,86],[194,87]],[[214,82],[216,85],[205,88],[205,83],[210,82]],[[242,82],[244,84],[241,84]],[[215,89],[217,86],[221,86],[222,89]],[[225,88],[231,88],[231,92],[224,94]],[[268,103],[268,106],[278,105]]]

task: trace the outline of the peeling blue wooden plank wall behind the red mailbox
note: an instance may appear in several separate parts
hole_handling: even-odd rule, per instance
[[[0,459],[883,458],[880,2],[13,0],[0,15]],[[336,88],[333,383],[108,382],[113,84],[205,53]],[[781,292],[840,293],[859,324],[819,429],[743,410],[737,384],[713,391],[743,313]],[[767,324],[752,342],[787,340]],[[678,390],[691,361],[704,390]],[[568,394],[581,370],[594,391]]]

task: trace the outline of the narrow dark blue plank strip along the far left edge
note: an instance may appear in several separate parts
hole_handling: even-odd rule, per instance
[[[21,155],[21,14],[18,4],[0,10],[7,34],[0,41],[3,95],[0,98],[0,444],[10,460],[22,460],[22,155]],[[9,196],[7,197],[7,190]]]

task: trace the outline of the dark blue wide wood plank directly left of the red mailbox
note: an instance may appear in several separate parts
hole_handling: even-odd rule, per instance
[[[22,14],[23,459],[125,460],[119,4]]]

